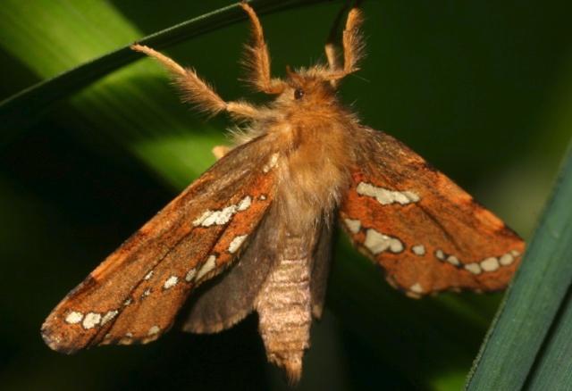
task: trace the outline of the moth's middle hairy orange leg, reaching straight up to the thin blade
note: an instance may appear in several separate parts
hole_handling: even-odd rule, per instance
[[[240,3],[240,6],[247,12],[252,27],[252,44],[246,46],[247,53],[244,60],[250,72],[248,82],[265,94],[280,94],[284,89],[284,84],[280,79],[273,79],[270,76],[270,56],[257,13],[247,3]]]

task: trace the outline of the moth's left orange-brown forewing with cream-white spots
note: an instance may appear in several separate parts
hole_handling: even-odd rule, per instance
[[[146,343],[189,292],[231,264],[273,199],[264,140],[223,157],[109,255],[42,326],[52,349]]]

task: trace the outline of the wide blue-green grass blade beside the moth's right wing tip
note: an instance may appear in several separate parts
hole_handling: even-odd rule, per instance
[[[546,370],[545,360],[553,361],[565,345],[543,357],[543,344],[553,336],[554,345],[567,337],[569,346],[570,310],[557,318],[572,284],[572,148],[560,171],[554,193],[543,213],[534,238],[517,271],[497,318],[485,338],[480,354],[467,380],[467,390],[516,390],[526,384],[534,368]],[[559,320],[558,324],[555,321]],[[568,325],[568,329],[567,329]],[[569,350],[568,350],[569,354]],[[570,358],[568,357],[568,365]],[[555,369],[551,369],[555,370]],[[559,370],[562,370],[559,368]],[[562,375],[561,375],[562,376]],[[543,375],[534,374],[534,381]],[[533,383],[534,383],[533,381]],[[534,383],[537,384],[537,383]],[[562,383],[560,383],[562,386]],[[555,389],[542,387],[542,389]]]

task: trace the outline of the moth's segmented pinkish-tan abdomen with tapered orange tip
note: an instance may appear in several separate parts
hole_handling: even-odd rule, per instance
[[[290,381],[302,373],[302,356],[309,347],[312,322],[311,253],[304,240],[284,241],[275,269],[257,297],[259,330],[268,361],[284,368]]]

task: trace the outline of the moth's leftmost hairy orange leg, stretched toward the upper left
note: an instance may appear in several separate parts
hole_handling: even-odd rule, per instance
[[[148,46],[132,45],[131,49],[147,54],[161,62],[163,66],[172,73],[175,82],[184,93],[183,100],[198,106],[199,110],[209,114],[219,112],[229,112],[238,118],[252,119],[260,115],[260,111],[253,105],[245,102],[225,102],[223,98],[214,92],[205,80],[200,79],[197,72],[192,69],[185,69],[177,62],[164,54],[151,49]]]

